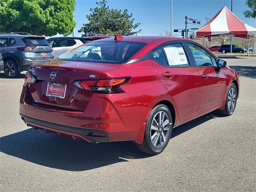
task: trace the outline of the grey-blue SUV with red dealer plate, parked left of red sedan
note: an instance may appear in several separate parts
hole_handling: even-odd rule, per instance
[[[30,65],[53,59],[52,47],[43,36],[0,34],[4,74],[15,78]]]

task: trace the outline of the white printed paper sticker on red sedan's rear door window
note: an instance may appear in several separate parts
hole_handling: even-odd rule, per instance
[[[164,47],[169,66],[188,64],[182,47]]]

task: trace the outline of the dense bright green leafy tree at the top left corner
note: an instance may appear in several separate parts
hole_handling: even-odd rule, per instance
[[[0,0],[0,32],[71,34],[75,0]]]

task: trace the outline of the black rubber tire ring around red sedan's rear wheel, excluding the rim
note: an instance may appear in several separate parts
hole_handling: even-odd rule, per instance
[[[148,120],[147,120],[147,124],[146,124],[146,132],[145,132],[145,136],[147,137],[146,141],[148,142],[148,146],[150,146],[150,150],[152,151],[152,154],[159,154],[166,148],[166,146],[168,145],[168,142],[170,140],[170,135],[172,133],[172,124],[170,124],[166,142],[161,147],[155,147],[153,145],[152,140],[151,140],[150,127],[151,127],[152,120],[153,120],[154,116],[160,111],[164,111],[168,115],[169,122],[172,123],[172,115],[171,115],[170,110],[167,108],[167,106],[161,104],[152,109],[152,112],[148,116]]]

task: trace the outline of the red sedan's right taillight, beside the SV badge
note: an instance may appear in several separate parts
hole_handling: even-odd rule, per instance
[[[124,93],[120,88],[122,84],[130,81],[130,77],[111,78],[100,80],[83,80],[76,81],[74,84],[78,89],[99,93]]]

